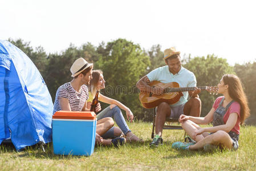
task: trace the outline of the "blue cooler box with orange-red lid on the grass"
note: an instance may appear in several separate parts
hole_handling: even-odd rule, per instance
[[[96,123],[94,112],[56,112],[52,116],[54,154],[90,156],[94,152]]]

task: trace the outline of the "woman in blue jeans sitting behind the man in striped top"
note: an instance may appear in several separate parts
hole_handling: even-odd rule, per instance
[[[100,89],[104,89],[104,88],[105,88],[105,80],[103,78],[103,72],[101,70],[92,71],[92,80],[89,84],[89,99],[87,101],[88,108],[91,107],[92,99],[94,99],[96,91],[100,91]],[[109,129],[102,136],[104,139],[118,137],[123,132],[128,142],[143,141],[131,132],[127,123],[124,120],[124,116],[121,113],[120,108],[126,111],[127,120],[131,122],[133,120],[133,114],[128,107],[120,103],[120,101],[101,95],[101,93],[99,93],[98,99],[99,101],[108,103],[110,105],[96,116],[97,120],[101,120],[105,117],[113,117],[113,119],[116,121],[116,124],[119,126],[119,128],[112,127],[111,129]]]

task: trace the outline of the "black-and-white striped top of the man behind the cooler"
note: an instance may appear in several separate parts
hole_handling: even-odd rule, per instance
[[[76,92],[70,82],[60,86],[55,96],[53,115],[55,112],[60,111],[59,97],[68,99],[71,111],[82,111],[84,103],[86,103],[86,100],[89,98],[88,88],[86,85],[83,85],[81,91]]]

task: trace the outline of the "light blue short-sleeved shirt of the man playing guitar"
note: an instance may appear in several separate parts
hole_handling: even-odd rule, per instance
[[[151,82],[154,80],[162,83],[177,82],[180,85],[180,87],[197,86],[196,76],[194,76],[193,72],[183,67],[181,67],[180,71],[178,71],[178,73],[174,75],[172,74],[172,72],[169,71],[168,66],[159,67],[149,72],[147,76]],[[177,101],[177,103],[170,105],[170,107],[177,107],[181,104],[185,104],[186,101],[188,101],[189,93],[187,91],[182,93],[184,96],[181,96],[180,100]]]

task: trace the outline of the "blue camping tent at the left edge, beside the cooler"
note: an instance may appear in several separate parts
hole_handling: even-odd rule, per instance
[[[11,137],[17,150],[51,141],[52,100],[27,55],[0,40],[0,144]]]

